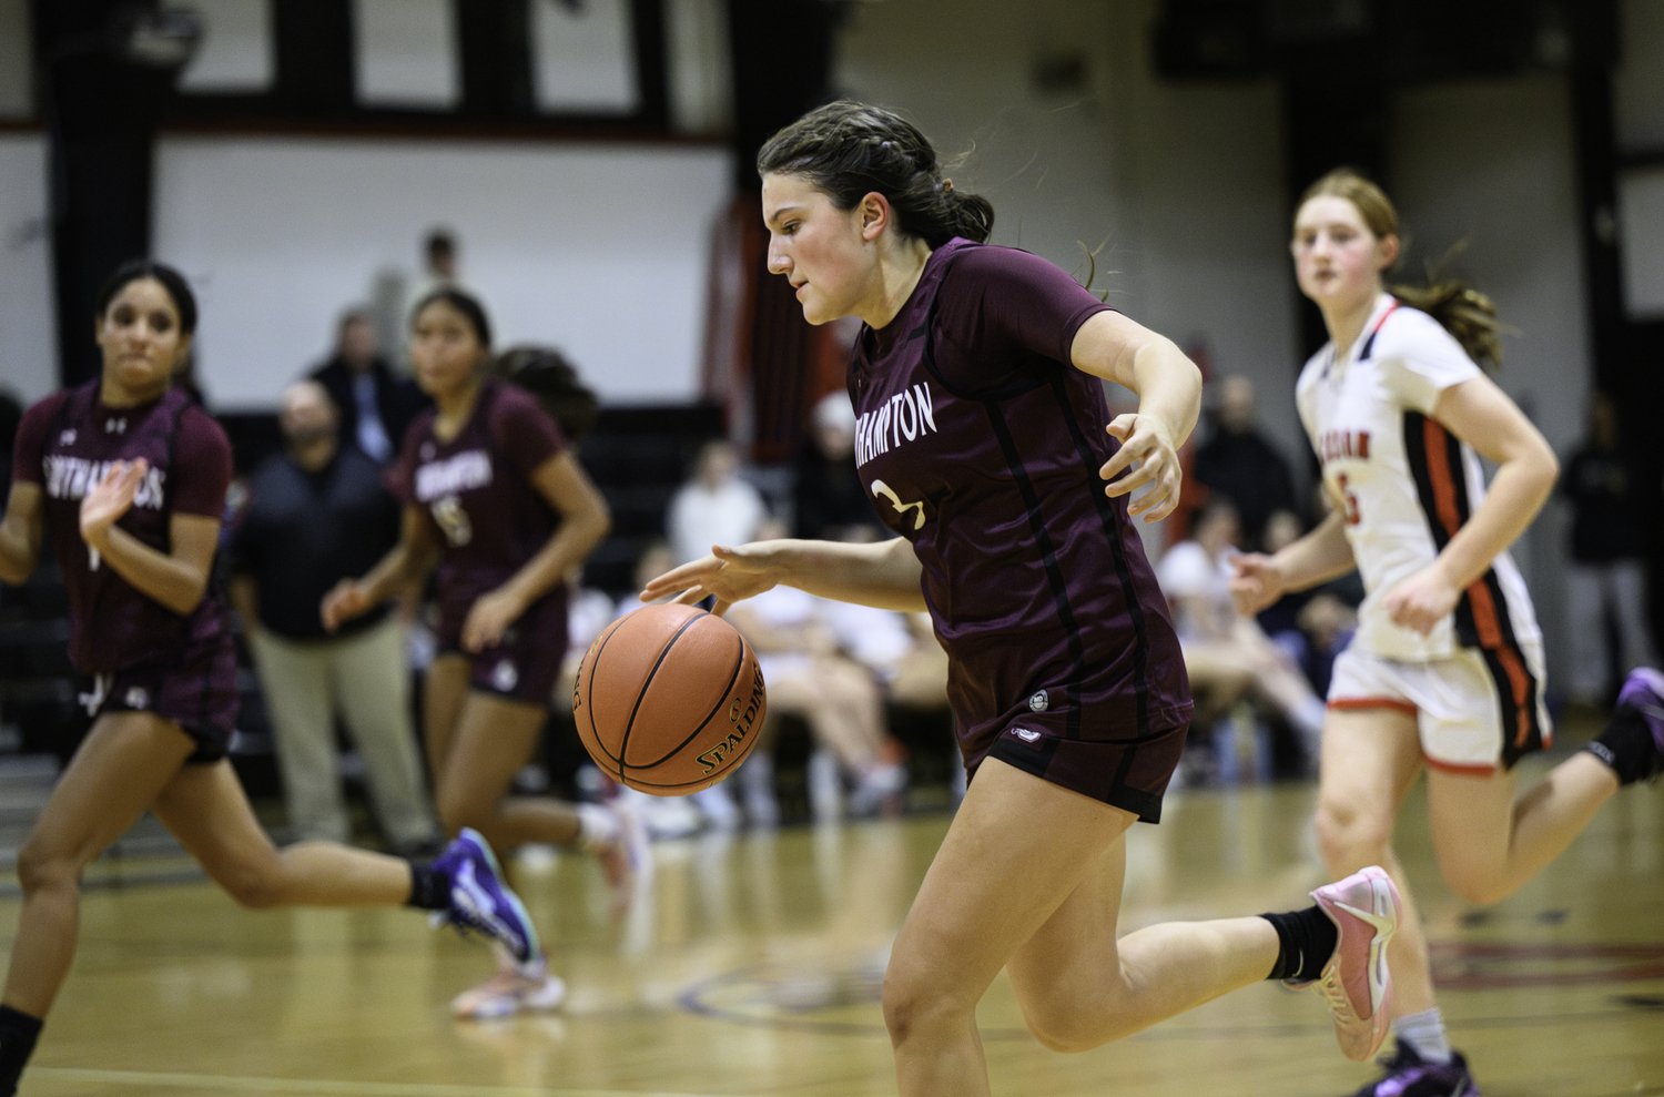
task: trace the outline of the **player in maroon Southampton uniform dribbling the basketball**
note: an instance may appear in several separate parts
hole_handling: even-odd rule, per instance
[[[849,371],[855,459],[900,536],[716,546],[644,598],[714,596],[724,611],[784,583],[930,613],[973,781],[884,980],[900,1092],[988,1092],[975,1010],[1002,967],[1057,1050],[1275,977],[1318,985],[1343,1049],[1366,1059],[1386,1032],[1396,922],[1379,869],[1295,914],[1115,937],[1125,834],[1160,819],[1191,709],[1130,516],[1173,509],[1196,368],[1050,263],[973,243],[992,206],[955,191],[887,110],[824,107],[757,163],[770,270],[810,323],[865,321]],[[1110,421],[1100,378],[1140,410]]]

